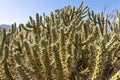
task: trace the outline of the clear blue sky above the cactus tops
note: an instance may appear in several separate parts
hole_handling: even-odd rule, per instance
[[[67,5],[78,7],[82,0],[0,0],[0,24],[12,24],[16,22],[27,23],[29,16],[35,17],[36,13],[50,14],[55,9]],[[101,12],[107,7],[106,12],[110,13],[115,9],[120,10],[120,0],[84,0],[91,10]]]

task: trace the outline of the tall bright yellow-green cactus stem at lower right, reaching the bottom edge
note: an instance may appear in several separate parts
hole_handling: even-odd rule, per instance
[[[104,52],[105,52],[105,45],[104,40],[102,39],[100,42],[99,51],[96,56],[96,62],[95,62],[95,70],[93,72],[93,76],[91,80],[102,80],[103,79],[103,68],[104,68]]]

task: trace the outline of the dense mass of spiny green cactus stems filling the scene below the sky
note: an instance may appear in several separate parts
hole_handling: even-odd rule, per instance
[[[118,11],[111,22],[82,2],[0,33],[0,80],[120,79]]]

